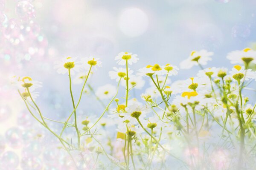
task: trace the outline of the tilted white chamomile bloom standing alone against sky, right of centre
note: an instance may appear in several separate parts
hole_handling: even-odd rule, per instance
[[[207,62],[212,60],[212,55],[213,52],[208,52],[206,50],[192,51],[189,58],[180,63],[180,68],[189,69],[194,65],[198,65],[198,63],[201,65],[207,65]]]

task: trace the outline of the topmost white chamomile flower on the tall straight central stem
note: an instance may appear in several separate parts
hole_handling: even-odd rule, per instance
[[[115,57],[115,60],[118,60],[117,64],[119,65],[125,65],[126,60],[129,65],[132,65],[132,63],[136,63],[139,60],[139,58],[137,57],[137,54],[132,54],[129,52],[121,52],[118,54],[118,56]]]

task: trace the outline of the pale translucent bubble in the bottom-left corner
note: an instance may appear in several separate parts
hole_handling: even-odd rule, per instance
[[[1,157],[0,165],[4,170],[13,170],[19,165],[19,157],[12,151],[5,152]]]

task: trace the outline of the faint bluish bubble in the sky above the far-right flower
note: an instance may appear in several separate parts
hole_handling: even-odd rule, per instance
[[[236,24],[231,31],[234,38],[247,38],[250,36],[250,27],[245,24]]]

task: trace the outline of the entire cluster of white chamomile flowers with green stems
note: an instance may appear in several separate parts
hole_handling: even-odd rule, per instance
[[[98,160],[101,153],[120,169],[162,169],[169,159],[185,167],[204,169],[207,164],[221,164],[216,163],[216,160],[202,161],[206,148],[203,139],[216,137],[212,132],[215,133],[218,126],[219,140],[225,146],[229,144],[232,148],[237,148],[235,155],[239,157],[239,164],[244,164],[250,160],[244,159],[244,155],[248,155],[249,151],[255,153],[253,145],[256,139],[256,103],[250,101],[242,90],[255,91],[249,86],[256,80],[256,71],[250,69],[250,65],[256,64],[256,51],[245,48],[228,53],[227,59],[233,64],[231,70],[204,68],[213,55],[213,52],[206,50],[192,51],[190,56],[180,63],[180,68],[198,66],[200,71],[196,77],[172,82],[170,77],[178,74],[177,66],[169,63],[151,64],[133,71],[130,67],[139,58],[136,54],[121,52],[115,57],[120,66],[113,67],[113,70],[108,72],[110,79],[116,80],[117,85],[106,84],[95,91],[94,87],[87,83],[87,79],[93,76],[93,69],[101,67],[102,62],[98,58],[87,57],[77,61],[77,58],[67,57],[58,61],[55,65],[57,72],[68,74],[70,78],[73,110],[64,122],[60,135],[55,133],[55,136],[67,152],[71,151],[67,148],[72,146],[79,152],[90,150],[90,153],[96,154],[96,159],[92,161],[88,158],[84,163],[84,166],[91,169],[104,165],[105,159]],[[75,72],[78,74],[71,79]],[[29,101],[35,104],[33,98],[38,94],[34,90],[41,87],[41,83],[30,77],[14,79],[13,83],[18,87],[26,105]],[[149,82],[149,87],[147,85],[144,89],[145,79]],[[71,83],[83,83],[77,103],[73,100]],[[85,85],[99,100],[99,104],[105,106],[105,110],[99,117],[84,115],[83,120],[79,122],[76,109],[84,94]],[[132,94],[132,91],[135,93],[134,89],[143,90],[143,94]],[[125,96],[118,99],[120,91],[125,92]],[[28,105],[27,107],[29,108]],[[73,115],[74,124],[69,123]],[[42,119],[39,122],[43,122],[50,130],[44,116],[41,113],[39,116]],[[70,126],[75,127],[77,131],[77,146],[73,146],[74,142],[69,139],[66,141],[61,138],[65,128]],[[82,126],[81,129],[79,126]],[[183,159],[184,154],[186,159]],[[227,159],[229,162],[223,164],[236,162],[236,159],[231,157]],[[77,160],[73,161],[76,164]]]

